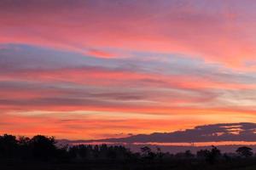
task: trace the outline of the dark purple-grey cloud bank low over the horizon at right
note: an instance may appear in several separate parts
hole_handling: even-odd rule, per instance
[[[103,142],[125,143],[194,143],[220,141],[256,141],[256,123],[223,123],[198,126],[172,133],[138,134],[121,139],[102,139]]]

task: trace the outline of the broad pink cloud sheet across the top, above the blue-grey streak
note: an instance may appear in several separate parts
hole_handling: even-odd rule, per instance
[[[2,15],[12,17],[1,20],[0,42],[38,44],[79,52],[86,48],[112,47],[180,53],[247,69],[244,62],[254,59],[256,54],[255,25],[247,20],[253,17],[252,14],[244,18],[248,12],[239,8],[240,3],[232,4],[233,8],[218,8],[218,5],[224,5],[219,1],[213,4],[217,8],[213,13],[188,2],[179,8],[178,4],[168,3],[164,8],[161,6],[164,2],[151,2],[152,6],[150,3],[127,6],[79,2],[73,3],[72,13],[65,5],[57,12],[53,10],[58,1],[49,6],[32,3],[31,8],[39,8],[39,12],[22,6],[20,13],[10,13],[10,9],[2,6]],[[208,7],[210,3],[203,5]],[[46,12],[43,13],[44,9]],[[97,51],[94,54],[113,57]]]

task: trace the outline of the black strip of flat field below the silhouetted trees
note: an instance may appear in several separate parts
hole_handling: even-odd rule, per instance
[[[256,161],[219,161],[215,164],[197,161],[177,161],[165,163],[127,163],[127,162],[24,162],[1,161],[3,170],[255,170]]]

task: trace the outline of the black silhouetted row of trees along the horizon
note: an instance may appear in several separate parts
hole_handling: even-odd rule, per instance
[[[155,151],[148,146],[140,152],[132,152],[122,145],[58,145],[55,138],[37,135],[33,138],[19,137],[4,134],[0,136],[0,159],[3,160],[38,160],[38,161],[125,161],[125,162],[165,162],[177,160],[205,161],[214,164],[217,161],[237,159],[254,159],[253,150],[249,147],[240,147],[234,154],[222,154],[217,147],[211,150],[199,150],[196,154],[190,150],[171,154],[160,148]]]

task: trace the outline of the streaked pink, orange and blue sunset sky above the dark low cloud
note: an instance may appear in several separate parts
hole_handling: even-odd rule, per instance
[[[255,8],[1,0],[0,133],[102,139],[256,122]]]

